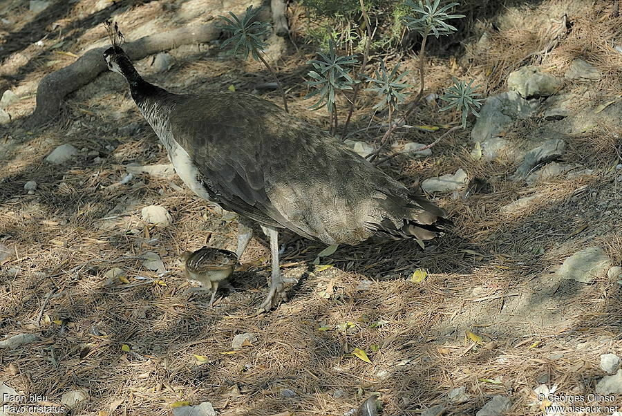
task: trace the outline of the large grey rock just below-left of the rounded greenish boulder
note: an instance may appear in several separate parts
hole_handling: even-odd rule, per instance
[[[480,117],[471,131],[471,139],[483,143],[501,133],[515,118],[529,115],[529,103],[515,91],[491,95],[482,106]]]

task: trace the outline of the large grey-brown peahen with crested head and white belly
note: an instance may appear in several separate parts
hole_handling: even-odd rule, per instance
[[[104,51],[122,75],[178,176],[197,196],[238,214],[236,255],[252,238],[252,222],[270,238],[272,280],[260,305],[287,300],[279,269],[279,229],[328,245],[372,236],[414,239],[420,245],[451,225],[445,211],[412,193],[336,138],[255,95],[174,94],[142,79],[121,48]],[[276,297],[279,295],[279,298]]]

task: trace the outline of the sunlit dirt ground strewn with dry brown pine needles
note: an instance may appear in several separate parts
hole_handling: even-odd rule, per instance
[[[447,415],[474,415],[496,395],[511,400],[508,415],[540,415],[534,393],[540,384],[556,385],[563,395],[594,393],[604,375],[601,354],[622,353],[621,285],[606,276],[590,284],[559,280],[555,272],[592,245],[603,247],[614,265],[622,261],[622,171],[615,169],[622,163],[620,124],[597,123],[566,138],[564,162],[591,174],[534,185],[511,179],[517,160],[471,158],[472,120],[429,157],[395,158],[383,169],[408,187],[462,168],[471,178],[486,178],[489,189],[466,199],[431,196],[450,212],[455,229],[424,251],[415,243],[370,242],[339,247],[321,259],[332,267],[316,267],[311,263],[325,247],[284,233],[283,272],[300,281],[288,288],[290,301],[256,316],[270,276],[263,236],[241,259],[243,271],[232,278],[236,292],[223,290],[211,309],[209,296],[187,298],[177,258],[202,247],[209,231],[210,245],[234,249],[235,218],[198,200],[176,176],[136,174],[121,182],[129,164],[168,160],[119,75],[102,73],[70,95],[54,126],[30,130],[21,123],[34,111],[41,77],[106,44],[104,19],[114,17],[132,40],[246,6],[57,0],[35,14],[27,1],[0,3],[0,91],[10,88],[21,99],[7,109],[12,122],[0,126],[0,243],[9,249],[0,260],[0,334],[36,335],[0,349],[0,382],[57,405],[66,393],[82,392],[85,399],[71,415],[169,415],[184,401],[209,401],[218,415],[343,415],[373,393],[384,405],[382,415],[420,415],[440,404]],[[452,76],[475,78],[486,95],[505,91],[509,72],[546,44],[550,21],[568,10],[572,30],[541,66],[563,76],[572,59],[582,57],[601,70],[600,82],[565,85],[581,97],[575,113],[619,100],[622,55],[613,46],[616,39],[622,44],[622,17],[612,16],[612,2],[499,6],[491,52],[475,54],[481,35],[475,25],[458,59],[431,54],[426,93],[442,91]],[[517,23],[516,16],[525,21]],[[313,48],[303,28],[275,50],[290,110],[327,128],[326,111],[310,111],[312,99],[304,98]],[[232,60],[217,43],[169,53],[169,70],[156,71],[153,57],[135,64],[149,82],[170,91],[234,85],[252,92],[272,82],[261,64]],[[415,84],[416,66],[415,55],[404,57]],[[272,91],[258,94],[280,103]],[[372,100],[364,95],[365,108]],[[369,117],[370,111],[357,111],[353,138],[373,144],[381,133],[364,130]],[[422,106],[409,123],[453,121],[450,113]],[[543,117],[518,120],[505,137],[527,146],[549,125]],[[437,134],[411,129],[395,140],[430,143]],[[45,162],[65,143],[79,149],[75,158],[62,166]],[[38,185],[32,194],[24,190],[30,180]],[[539,197],[525,209],[501,209],[534,194]],[[166,207],[172,224],[144,223],[141,209],[148,205]],[[147,252],[157,253],[167,272],[144,267]],[[124,278],[105,276],[115,267]],[[417,269],[428,275],[413,283]],[[245,332],[256,338],[233,350],[232,339]],[[353,354],[355,348],[370,362]],[[449,391],[461,387],[463,399],[451,401]],[[609,405],[622,411],[622,397]]]

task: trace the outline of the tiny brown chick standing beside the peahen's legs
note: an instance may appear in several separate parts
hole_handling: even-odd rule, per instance
[[[238,264],[238,256],[234,252],[213,247],[202,247],[196,252],[183,252],[179,258],[185,264],[186,278],[202,285],[194,290],[211,290],[210,307],[214,305],[218,284],[225,281]]]

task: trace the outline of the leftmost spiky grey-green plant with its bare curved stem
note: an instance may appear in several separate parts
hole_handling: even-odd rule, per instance
[[[279,86],[279,91],[281,92],[281,97],[283,97],[283,107],[285,111],[289,111],[288,100],[285,98],[283,86],[281,86],[279,78],[276,77],[276,73],[274,73],[272,66],[270,66],[264,58],[263,49],[265,48],[265,42],[263,38],[270,33],[270,23],[257,21],[257,12],[258,10],[253,9],[251,5],[248,6],[242,17],[238,17],[232,12],[229,12],[229,15],[232,17],[231,19],[225,16],[218,16],[225,22],[220,23],[218,28],[231,34],[231,37],[226,39],[220,45],[220,48],[222,49],[225,48],[225,46],[233,45],[231,50],[232,55],[242,57],[243,59],[247,59],[248,55],[251,55],[253,59],[261,61],[276,80],[276,84]]]

